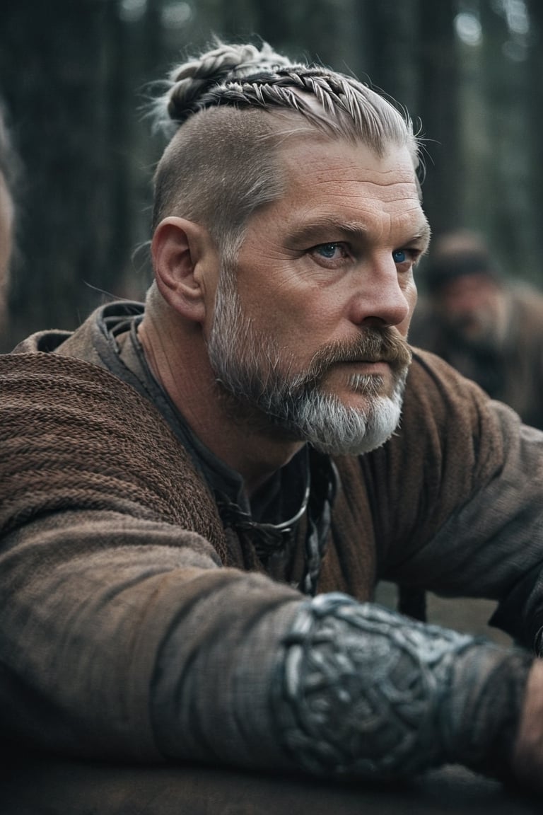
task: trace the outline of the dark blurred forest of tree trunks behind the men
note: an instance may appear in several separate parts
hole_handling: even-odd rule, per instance
[[[434,235],[487,236],[543,287],[541,0],[2,0],[0,96],[21,168],[7,344],[150,282],[152,88],[213,34],[262,37],[383,89],[425,139]]]

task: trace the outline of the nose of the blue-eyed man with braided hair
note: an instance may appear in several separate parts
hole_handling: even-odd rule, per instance
[[[409,319],[416,289],[411,277],[401,283],[392,258],[361,271],[351,301],[351,319],[357,325],[398,326]]]

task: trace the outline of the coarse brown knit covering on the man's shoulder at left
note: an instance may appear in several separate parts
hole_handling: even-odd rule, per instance
[[[221,536],[169,425],[105,368],[39,352],[0,356],[0,447],[0,482],[10,484],[6,523],[58,509],[111,509],[208,540]]]

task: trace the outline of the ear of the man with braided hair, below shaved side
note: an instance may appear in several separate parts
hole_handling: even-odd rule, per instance
[[[164,218],[155,229],[151,253],[164,300],[187,319],[204,322],[219,265],[208,230],[185,218]]]

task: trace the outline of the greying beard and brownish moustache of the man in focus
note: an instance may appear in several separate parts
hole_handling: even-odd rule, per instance
[[[331,346],[315,356],[307,371],[291,374],[291,363],[285,371],[273,337],[260,335],[243,315],[229,278],[223,270],[208,354],[230,416],[240,424],[308,442],[326,453],[361,454],[385,443],[400,421],[410,362],[408,346],[397,339],[397,332],[372,329],[361,335],[356,348]],[[372,353],[382,358],[383,337],[389,336],[394,337],[389,340],[392,394],[381,393],[383,377],[374,375],[354,375],[349,381],[353,391],[365,395],[364,409],[346,407],[335,394],[322,390],[322,377],[332,363],[368,359]]]

